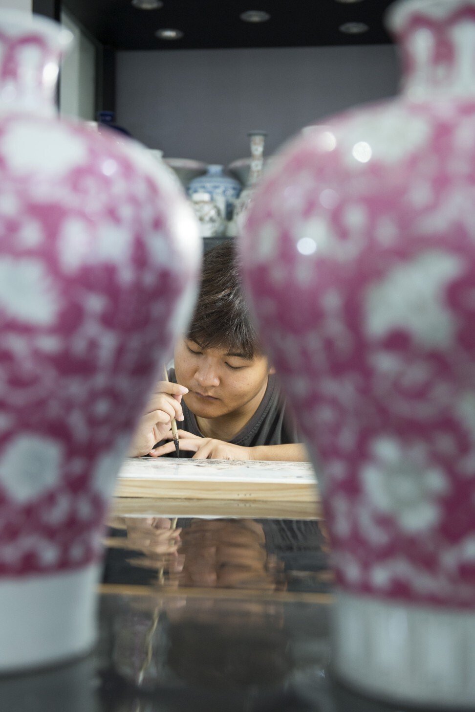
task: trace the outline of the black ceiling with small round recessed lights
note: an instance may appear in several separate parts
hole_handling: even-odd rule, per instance
[[[390,42],[383,26],[392,0],[164,0],[161,9],[139,10],[130,0],[62,0],[63,7],[105,46],[118,50],[314,47]],[[243,22],[246,10],[264,10],[263,23]],[[343,34],[346,22],[364,22],[363,34]],[[154,36],[175,28],[183,38]]]

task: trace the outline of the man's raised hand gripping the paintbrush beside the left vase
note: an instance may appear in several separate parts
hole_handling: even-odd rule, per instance
[[[171,434],[171,419],[183,420],[181,398],[185,393],[188,388],[177,383],[159,381],[156,384],[129,447],[129,457],[148,455],[154,444]]]

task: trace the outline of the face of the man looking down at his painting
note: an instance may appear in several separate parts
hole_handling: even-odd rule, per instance
[[[239,414],[253,401],[258,405],[269,372],[265,356],[246,359],[227,349],[203,349],[188,339],[180,340],[175,349],[176,382],[188,388],[183,399],[201,418]]]

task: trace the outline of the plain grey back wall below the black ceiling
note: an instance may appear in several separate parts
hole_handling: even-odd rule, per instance
[[[391,45],[117,53],[117,122],[165,156],[228,164],[268,132],[266,153],[306,124],[394,95]]]

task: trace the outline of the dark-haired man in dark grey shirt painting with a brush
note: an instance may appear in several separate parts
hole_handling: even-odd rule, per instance
[[[174,453],[170,424],[176,418],[183,456],[307,459],[250,323],[231,242],[204,257],[195,315],[187,337],[176,345],[174,363],[171,382],[156,385],[131,456]]]

